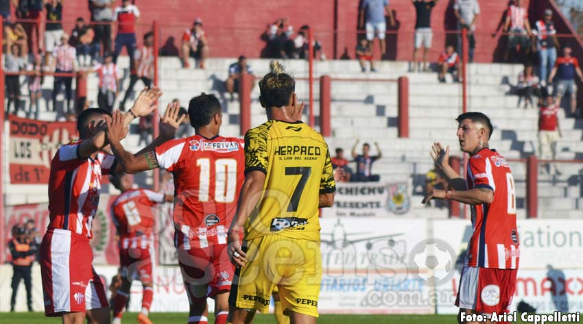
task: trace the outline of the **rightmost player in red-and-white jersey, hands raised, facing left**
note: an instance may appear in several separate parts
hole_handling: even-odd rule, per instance
[[[456,119],[460,148],[470,155],[466,182],[448,164],[449,147],[434,143],[431,158],[453,190],[433,189],[429,199],[452,199],[471,206],[474,229],[455,305],[460,323],[474,323],[471,314],[509,312],[519,266],[516,199],[510,166],[488,147],[492,123],[485,114],[466,112]]]

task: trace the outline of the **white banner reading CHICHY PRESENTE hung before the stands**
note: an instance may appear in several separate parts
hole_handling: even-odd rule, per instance
[[[322,209],[324,217],[379,217],[407,214],[411,195],[407,182],[337,183],[332,208]]]

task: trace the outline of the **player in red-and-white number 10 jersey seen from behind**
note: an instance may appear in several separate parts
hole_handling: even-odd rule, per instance
[[[180,107],[167,110],[167,118],[178,119]],[[243,140],[219,136],[222,112],[214,95],[191,99],[190,123],[195,135],[170,140],[134,156],[119,143],[119,127],[108,129],[112,151],[123,169],[137,173],[158,167],[174,175],[174,227],[178,262],[190,303],[188,323],[207,323],[206,298],[215,299],[215,323],[224,324],[228,314],[228,292],[233,265],[227,254],[227,229],[237,209],[243,184]],[[112,124],[119,124],[112,119]]]

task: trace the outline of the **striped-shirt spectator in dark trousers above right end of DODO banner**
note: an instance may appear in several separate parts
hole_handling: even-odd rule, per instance
[[[74,73],[77,71],[77,51],[75,47],[69,45],[69,35],[63,33],[61,36],[61,45],[55,47],[53,51],[53,60],[50,71],[55,73]],[[73,99],[73,77],[56,76],[53,84],[53,111],[57,107],[57,94],[60,92],[62,85],[65,88],[65,102],[67,112],[71,110],[71,99]],[[58,116],[64,115],[64,112],[58,112]]]

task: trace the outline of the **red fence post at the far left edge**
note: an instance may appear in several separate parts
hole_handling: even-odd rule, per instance
[[[0,26],[3,26],[3,16],[0,16]],[[0,32],[0,62],[4,56],[4,47],[1,44],[4,43],[4,33]],[[0,163],[4,166],[4,145],[8,143],[9,139],[4,138],[4,110],[6,109],[4,105],[4,66],[0,66],[0,99],[2,99],[2,111],[0,112]],[[2,168],[3,169],[3,168]],[[4,263],[4,251],[6,250],[6,233],[5,220],[6,217],[4,212],[4,172],[0,171],[0,248],[2,249],[0,253],[0,264]]]

